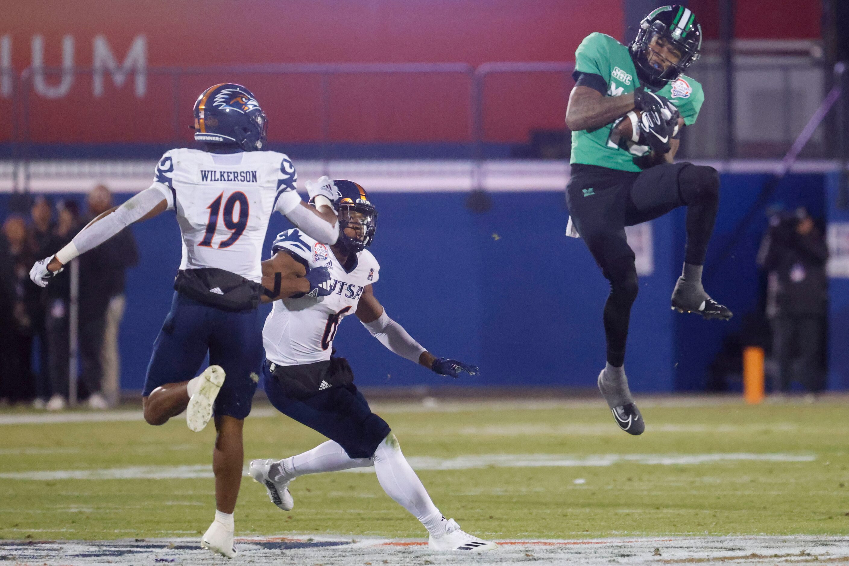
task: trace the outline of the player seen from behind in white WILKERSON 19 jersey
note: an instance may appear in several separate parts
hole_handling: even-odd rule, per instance
[[[194,128],[204,149],[166,152],[149,188],[95,218],[56,255],[38,261],[30,277],[46,286],[77,255],[133,222],[176,212],[183,260],[145,378],[144,419],[163,424],[186,411],[189,429],[199,431],[215,415],[216,520],[201,544],[232,558],[242,423],[262,359],[256,307],[268,220],[277,210],[328,244],[335,243],[339,227],[332,207],[317,210],[301,201],[286,155],[261,151],[267,120],[247,88],[229,83],[207,88],[194,104]],[[335,195],[324,198],[329,205]],[[207,352],[211,365],[195,377]]]

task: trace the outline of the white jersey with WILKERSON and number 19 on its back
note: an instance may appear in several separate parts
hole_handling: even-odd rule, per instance
[[[284,210],[301,201],[297,179],[295,165],[276,151],[167,151],[153,186],[177,212],[183,233],[180,269],[216,267],[261,282],[268,220],[278,200]]]

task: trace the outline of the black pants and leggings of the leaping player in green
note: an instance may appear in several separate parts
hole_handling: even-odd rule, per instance
[[[578,233],[610,281],[604,305],[607,361],[621,367],[638,291],[625,227],[687,206],[684,261],[703,265],[719,205],[719,175],[712,167],[690,163],[655,165],[638,173],[576,164],[571,166],[566,204]]]

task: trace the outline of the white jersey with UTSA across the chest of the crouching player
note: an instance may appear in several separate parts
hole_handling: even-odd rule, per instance
[[[357,311],[363,289],[377,281],[380,266],[368,249],[357,254],[350,272],[339,265],[329,246],[319,244],[295,228],[278,234],[272,254],[290,253],[307,270],[326,266],[333,292],[313,299],[275,300],[262,328],[266,357],[278,366],[296,366],[330,359],[333,339],[342,318]]]

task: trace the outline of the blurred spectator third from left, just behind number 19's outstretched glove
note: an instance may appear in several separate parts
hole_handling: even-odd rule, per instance
[[[59,221],[50,235],[49,251],[42,256],[62,249],[80,229],[80,212],[73,200],[59,201]],[[47,343],[49,352],[48,373],[53,396],[48,401],[48,411],[61,411],[68,399],[68,366],[70,337],[68,335],[68,303],[70,300],[70,276],[68,271],[59,273],[47,289]]]

